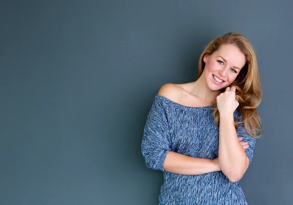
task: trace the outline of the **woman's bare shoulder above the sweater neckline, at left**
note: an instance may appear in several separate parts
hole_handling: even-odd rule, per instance
[[[165,98],[176,102],[182,97],[181,85],[166,83],[160,88],[158,95],[164,96]]]

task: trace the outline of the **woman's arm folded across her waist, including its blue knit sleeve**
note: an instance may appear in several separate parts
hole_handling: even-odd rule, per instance
[[[217,160],[173,152],[169,132],[165,102],[155,99],[147,115],[141,146],[147,167],[189,175],[220,171]]]

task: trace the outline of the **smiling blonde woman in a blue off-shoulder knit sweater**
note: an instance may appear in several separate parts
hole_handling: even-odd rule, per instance
[[[142,153],[163,171],[160,205],[246,205],[238,184],[262,125],[255,52],[239,33],[211,41],[195,82],[167,83],[147,115]]]

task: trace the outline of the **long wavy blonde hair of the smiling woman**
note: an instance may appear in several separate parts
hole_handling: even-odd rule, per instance
[[[262,99],[262,88],[256,55],[250,41],[242,34],[228,33],[209,42],[199,58],[198,78],[202,75],[206,64],[203,61],[203,57],[206,54],[211,55],[213,52],[217,51],[222,44],[236,45],[245,55],[244,67],[241,69],[235,81],[230,84],[230,87],[233,85],[236,87],[235,95],[236,100],[239,102],[237,109],[242,115],[242,121],[234,123],[235,128],[238,128],[239,123],[244,123],[247,133],[251,137],[259,138],[261,135],[257,136],[256,131],[258,131],[258,133],[262,131],[262,123],[257,112],[257,106]],[[225,89],[226,88],[223,88],[221,92],[225,92]],[[219,125],[220,116],[216,101],[213,102],[213,105],[214,122]]]

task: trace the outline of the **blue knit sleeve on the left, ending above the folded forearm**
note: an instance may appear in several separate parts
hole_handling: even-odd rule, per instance
[[[163,99],[155,98],[150,108],[141,149],[147,167],[164,171],[163,164],[170,151],[170,131]]]

